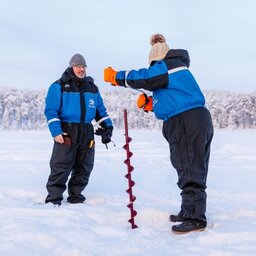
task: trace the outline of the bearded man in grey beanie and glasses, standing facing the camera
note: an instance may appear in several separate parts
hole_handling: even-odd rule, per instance
[[[68,202],[83,203],[82,191],[94,165],[96,120],[102,143],[111,141],[113,124],[94,80],[86,76],[86,62],[75,54],[61,78],[54,82],[46,97],[45,116],[54,138],[50,176],[45,203],[60,205],[68,182]]]

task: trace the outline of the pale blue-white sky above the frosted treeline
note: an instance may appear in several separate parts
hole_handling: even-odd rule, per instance
[[[148,66],[149,38],[187,49],[202,89],[256,90],[254,0],[0,0],[0,87],[48,88],[81,53],[103,69]]]

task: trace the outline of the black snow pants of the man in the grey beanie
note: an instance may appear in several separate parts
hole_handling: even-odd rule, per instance
[[[88,184],[94,165],[94,130],[91,124],[62,123],[65,143],[54,141],[50,160],[51,173],[46,184],[48,196],[45,202],[61,204],[68,182],[68,202],[82,203],[81,194]]]

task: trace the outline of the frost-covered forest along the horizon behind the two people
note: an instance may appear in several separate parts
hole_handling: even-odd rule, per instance
[[[256,128],[256,91],[237,93],[204,91],[206,107],[215,128]],[[131,129],[160,129],[162,121],[154,113],[136,106],[139,92],[126,88],[101,91],[115,128],[123,128],[123,110],[128,111]],[[44,116],[46,90],[0,89],[1,130],[41,130],[47,128]]]

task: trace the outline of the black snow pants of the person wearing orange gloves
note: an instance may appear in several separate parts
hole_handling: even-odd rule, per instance
[[[206,179],[213,125],[206,108],[195,108],[169,118],[163,124],[170,158],[178,173],[181,212],[185,219],[206,221]]]

